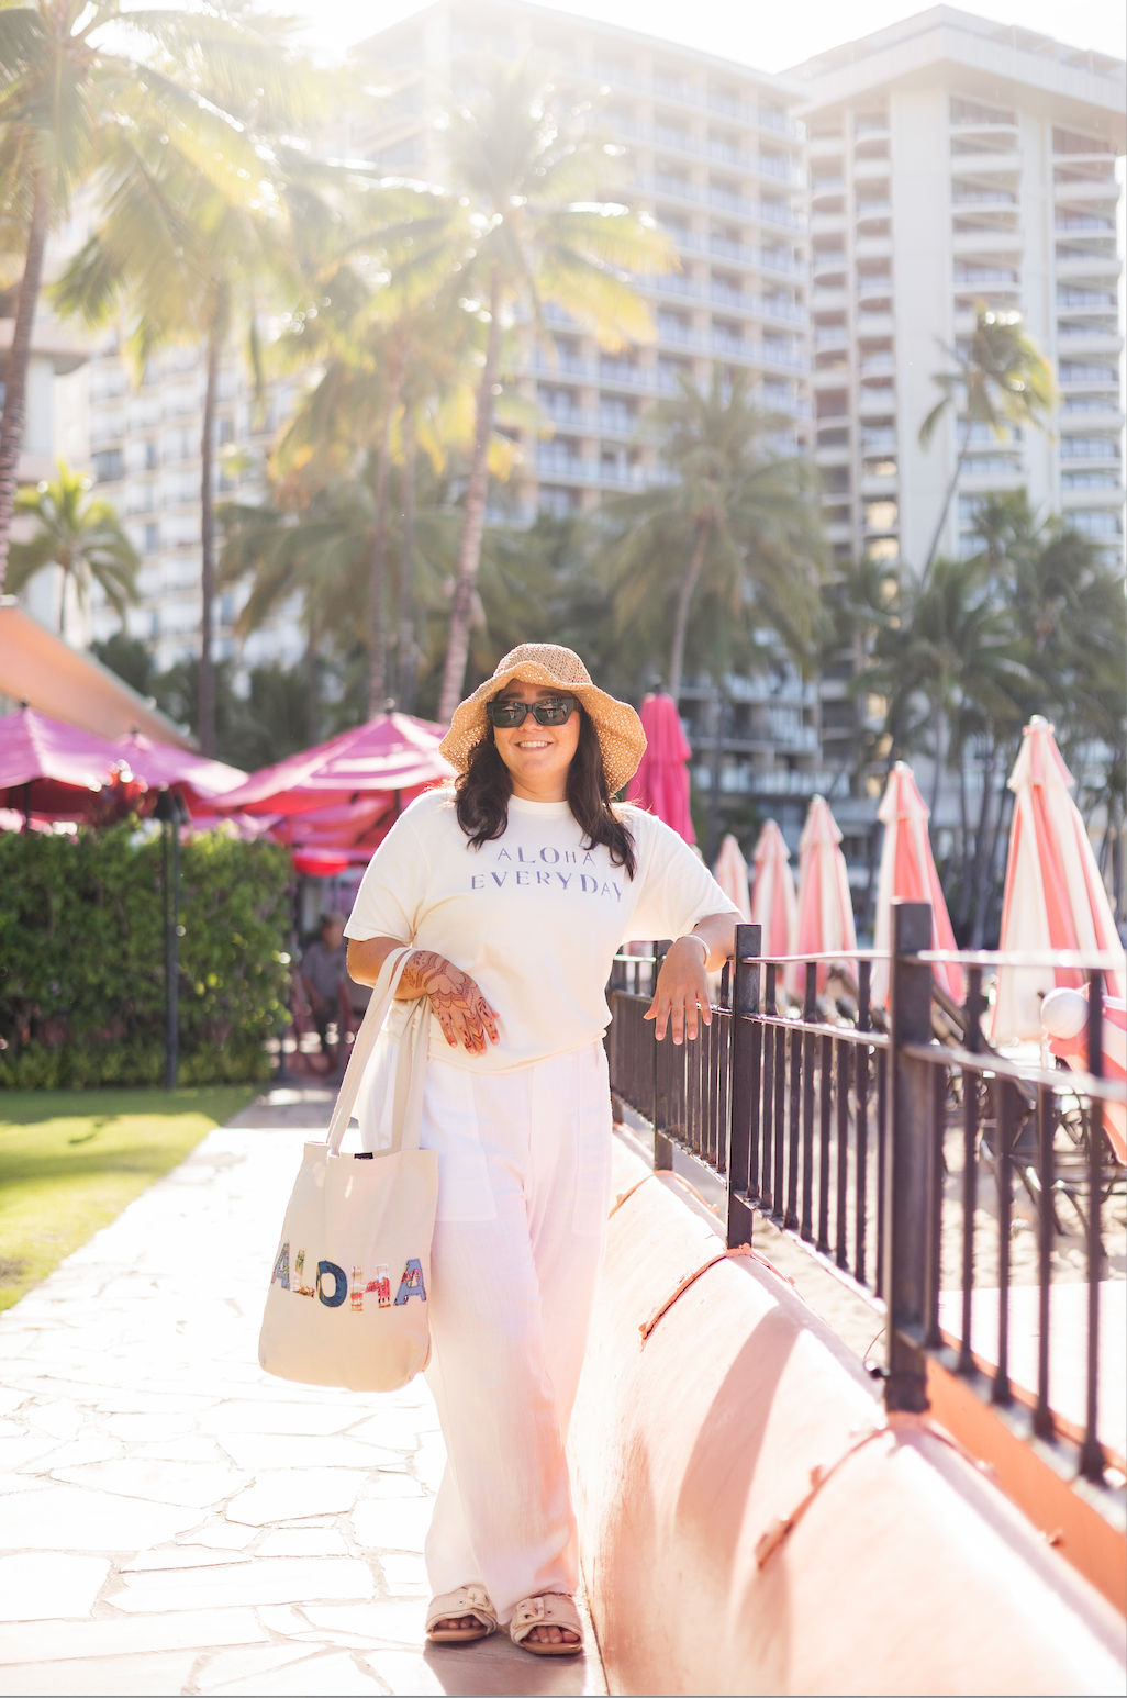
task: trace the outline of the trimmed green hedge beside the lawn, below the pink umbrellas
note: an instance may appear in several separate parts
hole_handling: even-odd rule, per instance
[[[180,1085],[266,1077],[289,880],[278,844],[182,844]],[[151,827],[0,834],[0,1088],[163,1083],[163,900]]]

